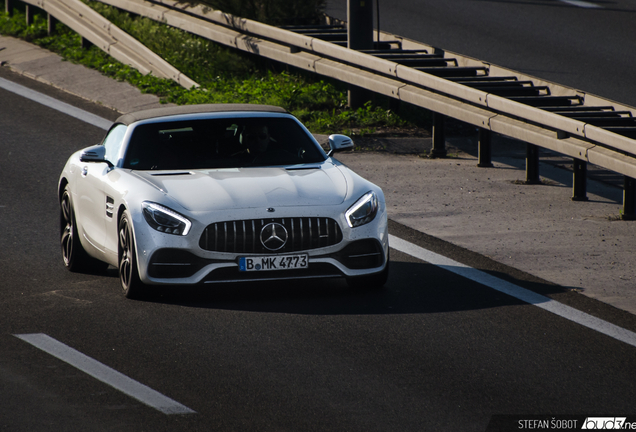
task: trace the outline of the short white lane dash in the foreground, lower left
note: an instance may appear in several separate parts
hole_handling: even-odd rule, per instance
[[[64,345],[50,336],[42,333],[15,336],[164,414],[195,413],[195,411],[181,405],[179,402],[128,378],[126,375],[82,354],[68,345]]]

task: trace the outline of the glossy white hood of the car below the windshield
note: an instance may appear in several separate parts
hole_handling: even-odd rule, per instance
[[[347,182],[336,166],[135,171],[190,211],[341,204]]]

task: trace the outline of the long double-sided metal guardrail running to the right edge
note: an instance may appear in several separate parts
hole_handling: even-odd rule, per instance
[[[45,10],[61,1],[73,0],[28,0]],[[338,26],[277,28],[178,0],[99,1],[623,174],[624,210],[636,216],[636,108],[384,32],[381,49],[354,51]],[[574,175],[575,188],[585,184],[585,170]]]

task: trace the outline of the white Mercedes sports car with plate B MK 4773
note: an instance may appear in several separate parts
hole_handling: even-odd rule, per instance
[[[60,176],[65,266],[152,285],[345,277],[389,269],[382,190],[325,153],[284,109],[188,105],[121,116]]]

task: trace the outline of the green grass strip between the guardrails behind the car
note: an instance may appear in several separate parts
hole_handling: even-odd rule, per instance
[[[162,102],[281,106],[316,133],[368,134],[378,128],[425,126],[428,121],[424,110],[408,107],[398,115],[389,109],[388,99],[382,98],[376,98],[361,108],[350,109],[347,106],[347,87],[341,83],[231,50],[103,3],[88,2],[100,14],[201,85],[200,88],[184,89],[171,80],[144,76],[97,47],[82,48],[81,37],[61,23],[49,36],[43,12],[37,13],[33,24],[27,26],[24,10],[16,8],[8,16],[3,2],[0,4],[0,34],[24,39],[58,53],[68,61],[129,82],[144,93],[159,96]]]

